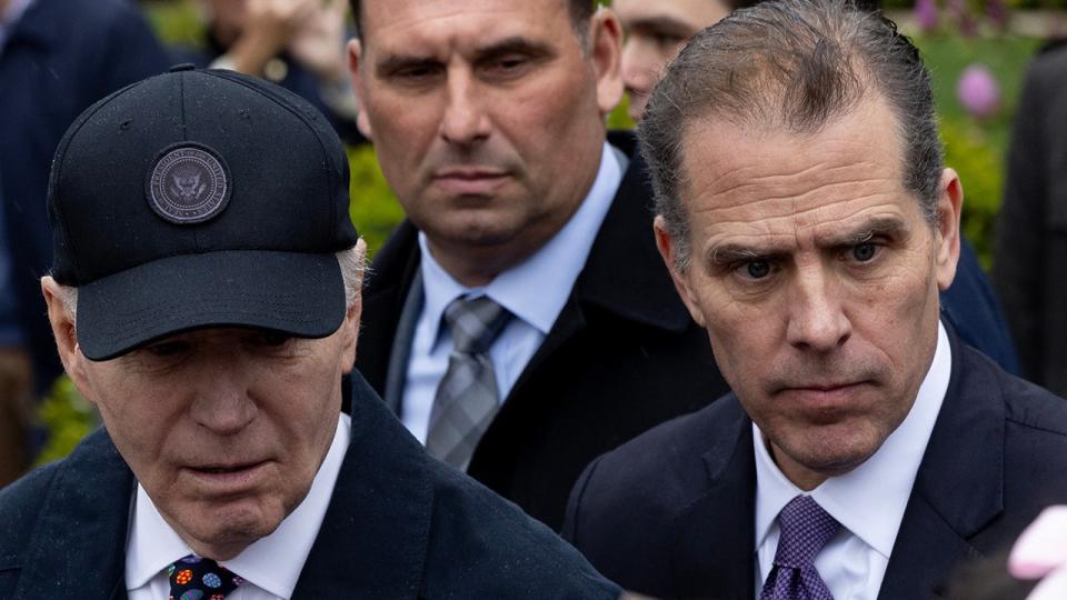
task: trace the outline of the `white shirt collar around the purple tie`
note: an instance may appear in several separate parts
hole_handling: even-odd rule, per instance
[[[845,529],[888,559],[926,444],[948,391],[951,368],[948,334],[938,322],[934,360],[919,387],[915,404],[900,427],[862,464],[844,476],[827,479],[810,492],[801,491],[778,469],[764,442],[762,432],[752,423],[756,447],[756,548],[764,543],[781,509],[798,494],[808,493]]]

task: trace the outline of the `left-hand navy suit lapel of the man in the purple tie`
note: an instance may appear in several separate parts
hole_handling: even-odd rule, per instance
[[[755,596],[756,458],[751,421],[730,394],[715,444],[704,457],[708,491],[675,519],[672,562],[680,598]],[[719,423],[717,423],[719,424]]]

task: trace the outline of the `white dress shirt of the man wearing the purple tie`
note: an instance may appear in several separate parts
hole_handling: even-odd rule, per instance
[[[911,496],[919,463],[948,390],[953,357],[938,323],[937,350],[910,412],[881,448],[862,464],[804,492],[782,474],[752,424],[756,446],[756,596],[774,568],[778,513],[807,493],[841,529],[815,558],[815,568],[838,600],[876,600],[889,554]]]

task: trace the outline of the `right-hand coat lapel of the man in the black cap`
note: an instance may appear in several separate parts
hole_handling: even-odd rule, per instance
[[[352,439],[295,599],[416,598],[433,488],[419,443],[353,374]]]

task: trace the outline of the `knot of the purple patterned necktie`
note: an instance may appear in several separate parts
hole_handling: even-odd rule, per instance
[[[798,496],[778,513],[781,537],[775,564],[802,569],[815,561],[815,556],[837,534],[840,523],[822,510],[810,496]]]

